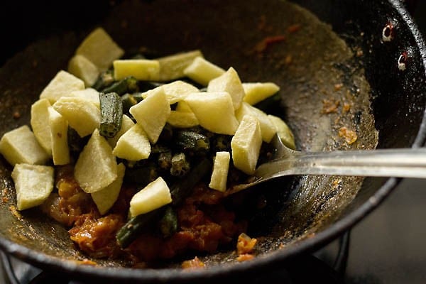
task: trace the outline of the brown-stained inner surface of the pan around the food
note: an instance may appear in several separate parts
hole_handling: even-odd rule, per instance
[[[56,72],[66,69],[77,45],[95,26],[105,28],[125,50],[168,55],[200,49],[224,69],[234,67],[244,82],[275,82],[283,97],[275,114],[293,129],[300,150],[370,149],[378,143],[371,88],[361,65],[363,50],[348,45],[302,6],[254,0],[121,1],[96,25],[36,40],[0,70],[0,135],[29,124],[31,104]],[[66,229],[40,210],[16,210],[11,167],[3,159],[0,171],[1,238],[61,259],[86,259]],[[244,193],[247,202],[263,204],[249,227],[249,235],[258,239],[256,254],[266,256],[326,229],[354,200],[362,181],[291,177]],[[199,257],[207,266],[236,261],[233,249]],[[179,265],[180,260],[165,263]]]

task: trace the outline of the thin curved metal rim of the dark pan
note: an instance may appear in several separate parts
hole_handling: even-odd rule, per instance
[[[399,16],[408,25],[408,31],[412,33],[417,48],[420,52],[422,69],[425,73],[426,67],[426,48],[425,41],[417,28],[417,25],[410,16],[410,13],[405,9],[401,1],[388,0],[392,8],[399,14]],[[423,111],[422,122],[417,131],[417,136],[411,148],[422,147],[426,140],[426,110]],[[304,239],[298,242],[295,246],[290,246],[288,249],[273,251],[267,257],[258,257],[253,261],[246,261],[242,263],[233,263],[231,265],[212,266],[208,269],[182,271],[172,268],[163,269],[141,269],[136,270],[132,268],[111,268],[111,267],[98,267],[98,266],[82,266],[75,261],[65,261],[53,256],[48,256],[38,251],[28,249],[26,246],[15,244],[12,241],[4,239],[0,236],[0,249],[11,256],[15,256],[23,261],[31,263],[39,268],[48,268],[55,273],[67,273],[68,275],[77,279],[109,279],[109,280],[132,280],[135,282],[181,282],[190,280],[205,280],[214,278],[219,275],[229,275],[230,273],[246,273],[247,271],[258,271],[260,268],[267,268],[268,266],[283,263],[288,259],[299,255],[301,252],[313,251],[320,246],[327,244],[329,241],[336,239],[340,234],[350,229],[355,224],[359,223],[361,219],[376,209],[381,202],[386,200],[386,197],[397,187],[402,181],[402,178],[388,178],[385,184],[371,196],[367,202],[361,205],[354,212],[347,214],[339,219],[334,224],[330,225],[327,229],[315,234],[312,238]]]

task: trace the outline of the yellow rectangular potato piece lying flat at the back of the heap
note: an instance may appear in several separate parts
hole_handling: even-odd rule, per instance
[[[160,78],[160,63],[158,60],[121,59],[114,60],[114,79],[121,80],[129,76],[137,80],[158,81]]]

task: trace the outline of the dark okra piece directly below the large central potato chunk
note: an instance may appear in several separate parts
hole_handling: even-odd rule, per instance
[[[187,153],[207,153],[210,150],[210,141],[201,133],[181,130],[175,135],[175,146]]]

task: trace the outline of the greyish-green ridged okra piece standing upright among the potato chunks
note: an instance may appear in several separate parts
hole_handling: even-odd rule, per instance
[[[121,129],[123,119],[123,103],[118,94],[99,93],[101,108],[101,125],[99,132],[104,137],[114,137]]]

